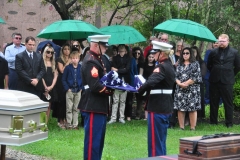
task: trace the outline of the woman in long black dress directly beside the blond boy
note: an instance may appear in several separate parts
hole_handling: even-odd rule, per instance
[[[69,44],[64,44],[61,49],[60,57],[57,59],[57,92],[58,92],[58,103],[57,103],[57,118],[58,126],[65,129],[66,119],[66,92],[64,91],[62,84],[62,75],[64,68],[71,62],[70,59],[71,47]]]

